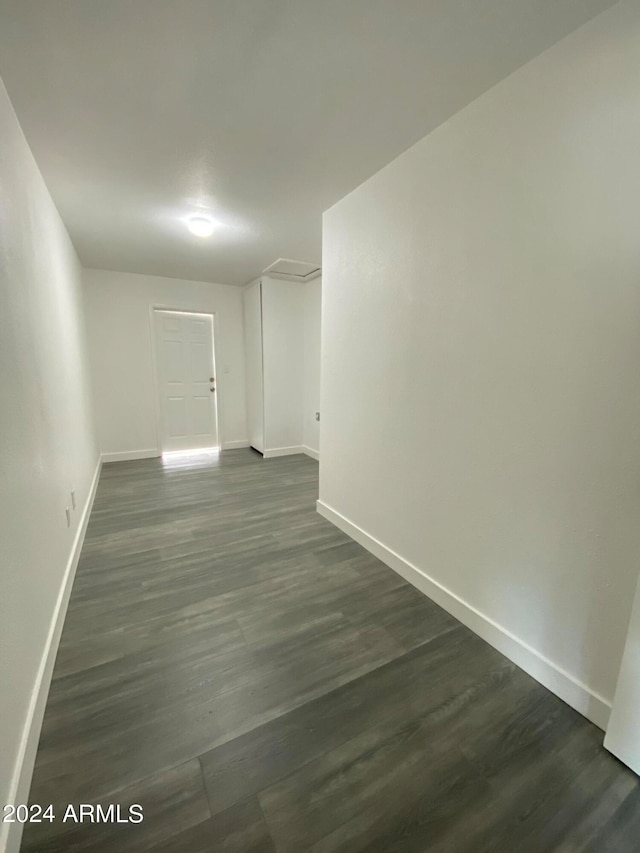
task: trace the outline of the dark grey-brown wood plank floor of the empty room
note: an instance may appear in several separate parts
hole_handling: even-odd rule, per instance
[[[58,820],[22,849],[640,850],[602,732],[318,516],[317,483],[249,450],[104,467],[31,789]]]

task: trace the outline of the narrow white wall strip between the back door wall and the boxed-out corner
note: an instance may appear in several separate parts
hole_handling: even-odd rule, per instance
[[[262,384],[262,296],[260,281],[245,287],[244,358],[247,380],[247,434],[249,444],[264,450],[264,388]]]

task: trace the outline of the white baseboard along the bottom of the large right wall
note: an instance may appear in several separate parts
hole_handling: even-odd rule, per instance
[[[327,504],[318,501],[316,507],[320,515],[335,524],[343,533],[346,533],[347,536],[350,536],[379,560],[382,560],[420,592],[429,596],[463,625],[466,625],[467,628],[470,628],[479,637],[502,652],[536,681],[559,696],[567,705],[571,705],[596,726],[603,730],[606,729],[611,713],[611,703],[603,696],[541,655],[506,628],[498,625],[493,619],[485,616],[484,613],[481,613],[438,581],[429,577],[422,569],[387,548],[382,542],[379,542]]]

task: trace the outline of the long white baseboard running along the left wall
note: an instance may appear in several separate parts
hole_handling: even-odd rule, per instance
[[[36,752],[38,749],[38,741],[40,740],[40,730],[42,729],[42,720],[44,717],[44,709],[47,704],[49,695],[49,686],[51,684],[51,675],[53,673],[53,665],[56,661],[58,653],[58,645],[60,643],[60,635],[64,619],[67,615],[67,606],[71,595],[71,588],[76,576],[78,560],[82,545],[84,542],[85,533],[87,532],[87,524],[91,515],[91,508],[96,496],[98,488],[98,480],[100,479],[100,469],[102,468],[102,459],[98,460],[95,474],[91,482],[87,501],[82,511],[82,517],[78,530],[76,531],[71,553],[67,561],[67,567],[64,572],[58,599],[53,611],[53,617],[49,626],[49,634],[40,659],[40,667],[31,694],[31,702],[29,710],[22,729],[20,739],[20,747],[18,749],[18,757],[16,759],[15,770],[11,782],[9,798],[7,802],[19,804],[26,803],[29,797],[29,789],[31,787],[31,777],[33,775],[33,766],[35,763]],[[20,823],[3,823],[0,825],[0,850],[5,853],[18,853],[20,849],[20,841],[22,839],[23,824]]]

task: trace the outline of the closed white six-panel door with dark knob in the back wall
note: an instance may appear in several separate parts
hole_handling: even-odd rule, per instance
[[[218,446],[213,317],[154,311],[162,451]]]

